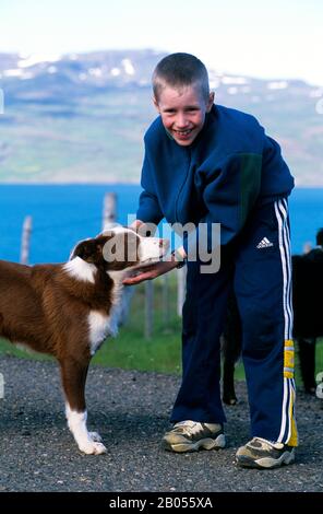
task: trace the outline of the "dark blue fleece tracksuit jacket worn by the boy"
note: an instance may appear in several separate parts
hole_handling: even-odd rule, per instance
[[[190,147],[166,132],[160,116],[148,128],[136,218],[158,224],[222,224],[222,244],[244,225],[256,202],[286,197],[294,178],[276,141],[248,114],[214,105]]]

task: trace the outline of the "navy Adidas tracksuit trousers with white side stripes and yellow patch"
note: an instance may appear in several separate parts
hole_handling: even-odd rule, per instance
[[[234,285],[242,323],[242,359],[251,435],[297,446],[291,264],[285,198],[258,208],[222,252],[220,269],[188,262],[182,383],[171,421],[226,421],[220,400],[219,337]]]

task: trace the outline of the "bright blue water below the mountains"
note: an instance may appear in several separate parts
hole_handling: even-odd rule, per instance
[[[60,262],[74,244],[100,232],[104,196],[118,196],[118,221],[135,213],[135,185],[0,186],[0,259],[19,261],[23,220],[33,217],[29,261]],[[295,189],[289,200],[292,253],[315,243],[323,226],[323,188]]]

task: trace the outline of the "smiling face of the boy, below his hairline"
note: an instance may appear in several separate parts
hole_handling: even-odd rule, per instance
[[[201,132],[205,114],[210,113],[213,102],[214,93],[206,102],[198,85],[179,89],[165,84],[158,100],[154,98],[165,129],[181,147],[192,144]]]

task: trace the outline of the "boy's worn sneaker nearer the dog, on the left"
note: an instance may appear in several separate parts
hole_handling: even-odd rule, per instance
[[[196,452],[200,448],[218,449],[226,445],[223,427],[217,423],[180,421],[166,432],[163,447],[169,452]]]

